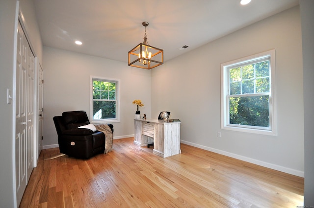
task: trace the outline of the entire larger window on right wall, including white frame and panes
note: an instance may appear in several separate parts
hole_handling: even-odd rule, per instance
[[[221,64],[221,128],[275,135],[275,50]]]

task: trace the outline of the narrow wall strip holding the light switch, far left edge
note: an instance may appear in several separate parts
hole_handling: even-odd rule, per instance
[[[0,6],[0,207],[12,208],[13,175],[13,105],[6,104],[6,89],[13,88],[14,24],[16,1],[2,0]]]

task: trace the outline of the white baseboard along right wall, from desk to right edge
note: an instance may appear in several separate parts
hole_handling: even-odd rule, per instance
[[[221,154],[221,155],[225,155],[225,156],[228,156],[228,157],[231,157],[231,158],[235,158],[235,159],[238,159],[238,160],[241,160],[241,161],[250,162],[250,163],[261,165],[263,167],[267,167],[267,168],[270,168],[270,169],[273,169],[273,170],[278,170],[278,171],[281,171],[281,172],[284,172],[284,173],[288,173],[288,174],[291,174],[291,175],[295,175],[295,176],[299,176],[299,177],[303,177],[304,178],[304,172],[303,171],[291,169],[291,168],[288,168],[288,167],[283,167],[283,166],[272,164],[272,163],[269,163],[269,162],[263,162],[263,161],[255,160],[255,159],[252,159],[252,158],[244,157],[244,156],[241,156],[241,155],[237,155],[237,154],[226,152],[226,151],[219,150],[219,149],[214,149],[214,148],[211,148],[211,147],[203,146],[203,145],[192,143],[192,142],[189,142],[189,141],[181,140],[181,143],[187,144],[187,145],[190,145],[190,146],[193,146],[193,147],[197,147],[197,148],[200,148],[200,149],[208,150],[210,152],[214,152],[214,153],[218,153],[218,154]]]

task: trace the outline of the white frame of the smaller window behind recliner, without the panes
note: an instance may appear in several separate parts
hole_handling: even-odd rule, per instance
[[[106,119],[94,119],[93,118],[93,79],[97,79],[104,82],[115,82],[116,83],[116,117],[115,118],[106,118]],[[90,76],[89,83],[89,120],[91,123],[114,123],[120,122],[120,79],[108,78],[108,77],[99,77],[99,76]]]

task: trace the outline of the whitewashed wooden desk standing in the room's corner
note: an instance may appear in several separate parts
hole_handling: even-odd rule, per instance
[[[180,154],[180,123],[134,119],[133,143],[142,147],[154,142],[153,153],[163,158]]]

